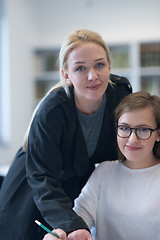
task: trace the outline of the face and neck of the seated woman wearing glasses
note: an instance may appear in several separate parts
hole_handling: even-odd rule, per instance
[[[118,125],[131,128],[155,129],[157,127],[150,107],[122,114],[118,120]],[[117,135],[119,149],[126,158],[124,165],[130,168],[146,168],[160,163],[153,154],[153,146],[158,140],[158,130],[152,132],[151,137],[147,140],[139,139],[134,130],[127,138],[121,138]]]

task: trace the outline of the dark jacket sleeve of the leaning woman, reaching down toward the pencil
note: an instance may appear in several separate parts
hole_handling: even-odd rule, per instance
[[[68,233],[88,227],[72,210],[72,201],[61,185],[63,146],[67,139],[67,117],[61,111],[60,107],[48,111],[47,104],[38,110],[28,138],[26,174],[45,221]]]

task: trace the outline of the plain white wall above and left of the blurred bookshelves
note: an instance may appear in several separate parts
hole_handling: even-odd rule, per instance
[[[11,139],[0,147],[0,166],[22,144],[32,113],[32,49],[60,45],[77,28],[106,42],[160,40],[159,0],[5,0],[9,34]]]

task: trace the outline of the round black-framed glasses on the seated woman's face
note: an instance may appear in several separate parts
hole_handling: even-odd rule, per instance
[[[121,138],[128,138],[132,131],[135,131],[136,136],[141,139],[141,140],[147,140],[148,138],[151,137],[152,133],[157,130],[157,128],[152,129],[152,128],[131,128],[128,126],[124,125],[118,125],[116,126],[117,129],[117,135]]]

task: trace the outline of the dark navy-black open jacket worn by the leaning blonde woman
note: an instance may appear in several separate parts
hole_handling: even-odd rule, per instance
[[[59,88],[42,101],[30,128],[27,152],[19,150],[1,188],[2,239],[42,239],[45,232],[36,226],[35,219],[67,233],[87,228],[72,210],[73,201],[95,163],[117,159],[113,112],[120,100],[132,92],[126,78],[110,75],[110,79],[114,84],[109,84],[105,93],[101,132],[90,158],[77,117],[73,88],[70,98]]]

